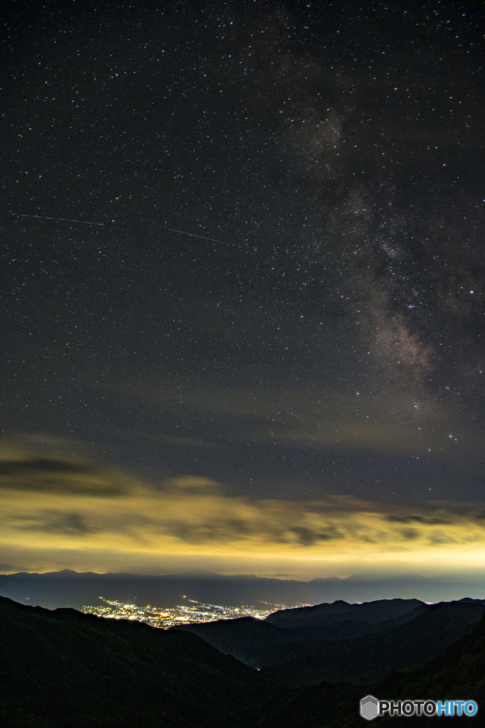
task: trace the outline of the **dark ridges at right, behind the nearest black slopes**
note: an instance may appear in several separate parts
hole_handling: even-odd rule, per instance
[[[172,629],[190,631],[292,687],[369,684],[428,662],[470,633],[484,611],[485,602],[472,599],[431,606],[414,599],[335,602],[276,612],[264,622],[244,617]]]

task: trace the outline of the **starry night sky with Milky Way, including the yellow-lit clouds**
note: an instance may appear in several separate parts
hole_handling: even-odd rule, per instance
[[[474,7],[7,4],[1,570],[483,564]]]

